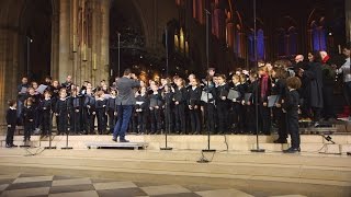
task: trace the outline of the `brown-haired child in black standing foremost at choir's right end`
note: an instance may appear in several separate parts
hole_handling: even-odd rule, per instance
[[[284,101],[283,108],[286,112],[287,128],[292,138],[292,147],[284,150],[285,153],[299,152],[299,132],[298,132],[298,92],[296,91],[301,86],[301,81],[296,77],[287,78],[286,85],[288,92],[286,100]]]

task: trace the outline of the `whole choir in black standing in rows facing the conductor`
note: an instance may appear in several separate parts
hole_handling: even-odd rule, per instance
[[[190,74],[186,80],[173,76],[145,81],[135,90],[128,130],[149,135],[165,131],[197,135],[207,130],[217,135],[256,134],[258,130],[270,135],[275,125],[279,138],[274,142],[285,143],[291,134],[292,148],[297,151],[298,118],[310,118],[318,126],[321,118],[335,117],[329,107],[336,74],[343,72],[344,79],[351,76],[350,47],[343,49],[349,55],[341,67],[332,63],[325,51],[316,51],[308,54],[308,61],[302,55],[296,56],[293,65],[259,62],[251,71],[238,68],[219,74],[210,68],[204,79]],[[346,91],[350,95],[351,91]],[[95,125],[99,135],[111,134],[116,123],[115,82],[110,86],[102,80],[93,88],[89,81],[81,86],[73,84],[70,76],[61,84],[49,77],[42,84],[29,83],[23,78],[18,92],[18,100],[9,102],[9,147],[13,144],[11,132],[19,123],[24,126],[24,140],[30,140],[33,132],[50,135],[53,123],[57,125],[57,135],[95,134]]]

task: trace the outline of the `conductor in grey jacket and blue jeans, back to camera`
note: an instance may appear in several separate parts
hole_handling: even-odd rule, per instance
[[[117,123],[113,130],[113,141],[129,142],[125,139],[125,131],[128,128],[133,106],[135,105],[135,92],[133,89],[139,88],[143,82],[138,81],[131,69],[126,69],[123,77],[116,81],[116,89],[118,94],[116,96],[117,105]]]

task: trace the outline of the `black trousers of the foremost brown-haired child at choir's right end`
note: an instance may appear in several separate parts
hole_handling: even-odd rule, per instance
[[[287,112],[287,128],[290,136],[292,138],[292,148],[297,149],[299,148],[299,131],[298,131],[298,114]]]

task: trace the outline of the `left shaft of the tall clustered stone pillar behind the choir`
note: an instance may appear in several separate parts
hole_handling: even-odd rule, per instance
[[[59,1],[59,54],[58,54],[58,78],[60,82],[66,80],[68,74],[72,74],[72,63],[70,61],[70,1]]]

